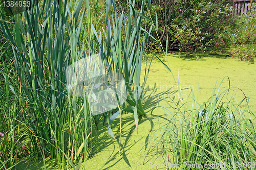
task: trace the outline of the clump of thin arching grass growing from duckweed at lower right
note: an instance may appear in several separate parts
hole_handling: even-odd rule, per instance
[[[159,109],[167,114],[168,123],[156,130],[150,142],[155,143],[153,150],[160,149],[157,155],[162,156],[165,167],[254,169],[255,117],[249,112],[248,98],[239,102],[232,88],[223,92],[220,88],[215,87],[202,105],[192,89],[187,103],[163,99],[168,107]]]

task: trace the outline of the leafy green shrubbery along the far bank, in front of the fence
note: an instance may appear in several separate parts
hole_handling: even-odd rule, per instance
[[[120,11],[125,11],[126,1],[119,1]],[[136,1],[138,7],[142,1]],[[148,2],[148,1],[147,1]],[[254,52],[250,45],[255,42],[255,3],[251,2],[250,13],[233,18],[231,1],[151,1],[147,13],[155,21],[147,52],[179,51],[186,56],[198,51],[228,51],[243,44],[239,58],[253,63]],[[143,25],[151,23],[147,20]],[[166,41],[167,39],[167,41]],[[162,44],[159,45],[159,42]],[[249,44],[249,45],[247,45]],[[250,57],[248,57],[250,56]],[[198,57],[198,56],[197,56]]]

